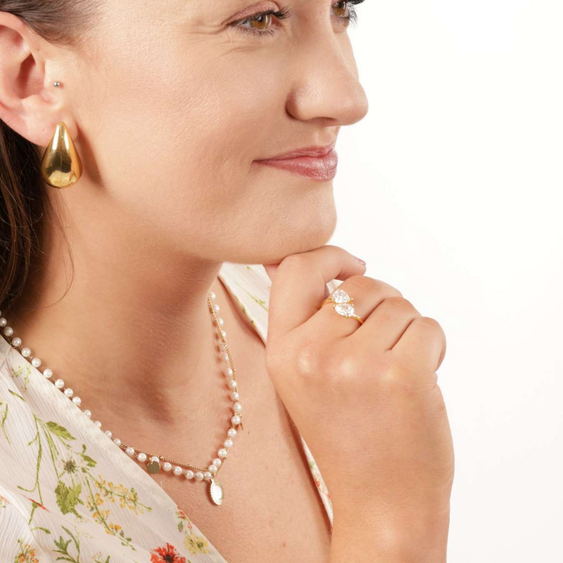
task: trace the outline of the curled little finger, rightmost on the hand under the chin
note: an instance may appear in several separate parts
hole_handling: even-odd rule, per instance
[[[406,363],[422,365],[435,372],[444,359],[445,350],[446,336],[440,323],[421,316],[412,320],[390,351]]]

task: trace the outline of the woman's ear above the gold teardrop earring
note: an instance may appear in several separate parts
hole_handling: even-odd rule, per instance
[[[19,17],[0,11],[0,119],[41,147],[51,142],[59,121],[73,139],[78,134],[65,91],[53,86],[63,74],[60,53]]]

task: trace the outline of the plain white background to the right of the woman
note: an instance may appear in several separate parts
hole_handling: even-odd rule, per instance
[[[448,561],[563,561],[563,2],[365,0],[330,244],[446,333]]]

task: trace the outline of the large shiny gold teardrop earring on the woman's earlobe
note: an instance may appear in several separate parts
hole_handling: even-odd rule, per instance
[[[60,82],[55,82],[60,86]],[[52,187],[69,187],[82,176],[82,160],[65,123],[57,123],[55,133],[41,160],[41,177]]]

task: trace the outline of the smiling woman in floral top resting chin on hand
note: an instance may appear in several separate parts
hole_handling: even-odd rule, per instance
[[[0,561],[445,561],[443,331],[325,244],[356,3],[0,0]]]

